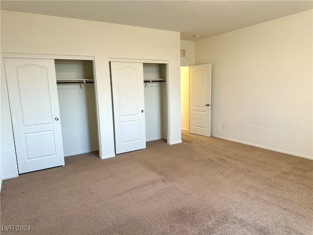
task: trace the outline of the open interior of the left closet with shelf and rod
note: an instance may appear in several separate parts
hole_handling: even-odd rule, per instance
[[[93,61],[54,61],[64,156],[97,151]]]

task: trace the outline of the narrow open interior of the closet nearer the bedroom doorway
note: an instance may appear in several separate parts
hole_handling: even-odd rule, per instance
[[[146,141],[167,140],[167,64],[143,63]]]

